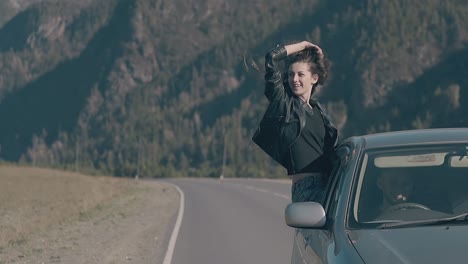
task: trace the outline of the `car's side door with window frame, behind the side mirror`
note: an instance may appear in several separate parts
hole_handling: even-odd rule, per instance
[[[295,229],[292,264],[327,263],[327,253],[334,244],[332,233],[335,219],[335,209],[339,195],[336,189],[344,173],[350,155],[350,148],[340,147],[337,150],[338,158],[330,174],[325,197],[324,208],[327,213],[327,225],[322,229]]]

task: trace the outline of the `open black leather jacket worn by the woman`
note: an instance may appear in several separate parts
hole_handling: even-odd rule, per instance
[[[265,55],[265,96],[270,103],[252,140],[292,175],[298,171],[292,160],[291,146],[305,127],[306,103],[283,84],[278,63],[286,56],[283,46],[277,46]],[[337,129],[318,101],[311,99],[310,103],[322,114],[326,131],[324,155],[331,160],[338,143]],[[331,169],[330,165],[324,165],[325,171]]]

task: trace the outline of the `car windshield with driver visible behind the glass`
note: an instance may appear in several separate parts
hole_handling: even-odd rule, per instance
[[[350,219],[359,226],[468,213],[468,147],[393,148],[365,153]]]

